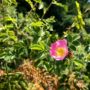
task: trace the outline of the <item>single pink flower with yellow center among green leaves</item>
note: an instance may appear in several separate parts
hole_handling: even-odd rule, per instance
[[[64,58],[68,55],[68,47],[67,40],[57,40],[56,42],[51,44],[50,47],[50,56],[56,60],[64,60]]]

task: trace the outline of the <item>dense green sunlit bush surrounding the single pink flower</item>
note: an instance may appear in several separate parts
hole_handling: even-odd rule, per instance
[[[0,3],[0,68],[6,71],[7,77],[0,81],[0,88],[4,82],[9,87],[21,79],[26,85],[28,82],[23,78],[17,76],[18,80],[9,72],[29,59],[37,68],[58,76],[61,83],[58,90],[89,90],[89,11],[87,0],[3,0]],[[67,40],[69,53],[64,60],[57,61],[50,56],[50,46],[60,39]],[[7,89],[12,90],[11,87]]]

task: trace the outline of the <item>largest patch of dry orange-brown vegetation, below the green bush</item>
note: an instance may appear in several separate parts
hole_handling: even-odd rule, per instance
[[[45,70],[37,69],[29,60],[24,61],[15,72],[22,72],[28,81],[34,83],[37,90],[58,90],[58,78]]]

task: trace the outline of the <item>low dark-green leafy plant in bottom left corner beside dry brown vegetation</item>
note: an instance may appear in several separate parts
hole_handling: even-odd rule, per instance
[[[0,90],[28,90],[28,84],[21,73],[8,73],[0,78]]]

